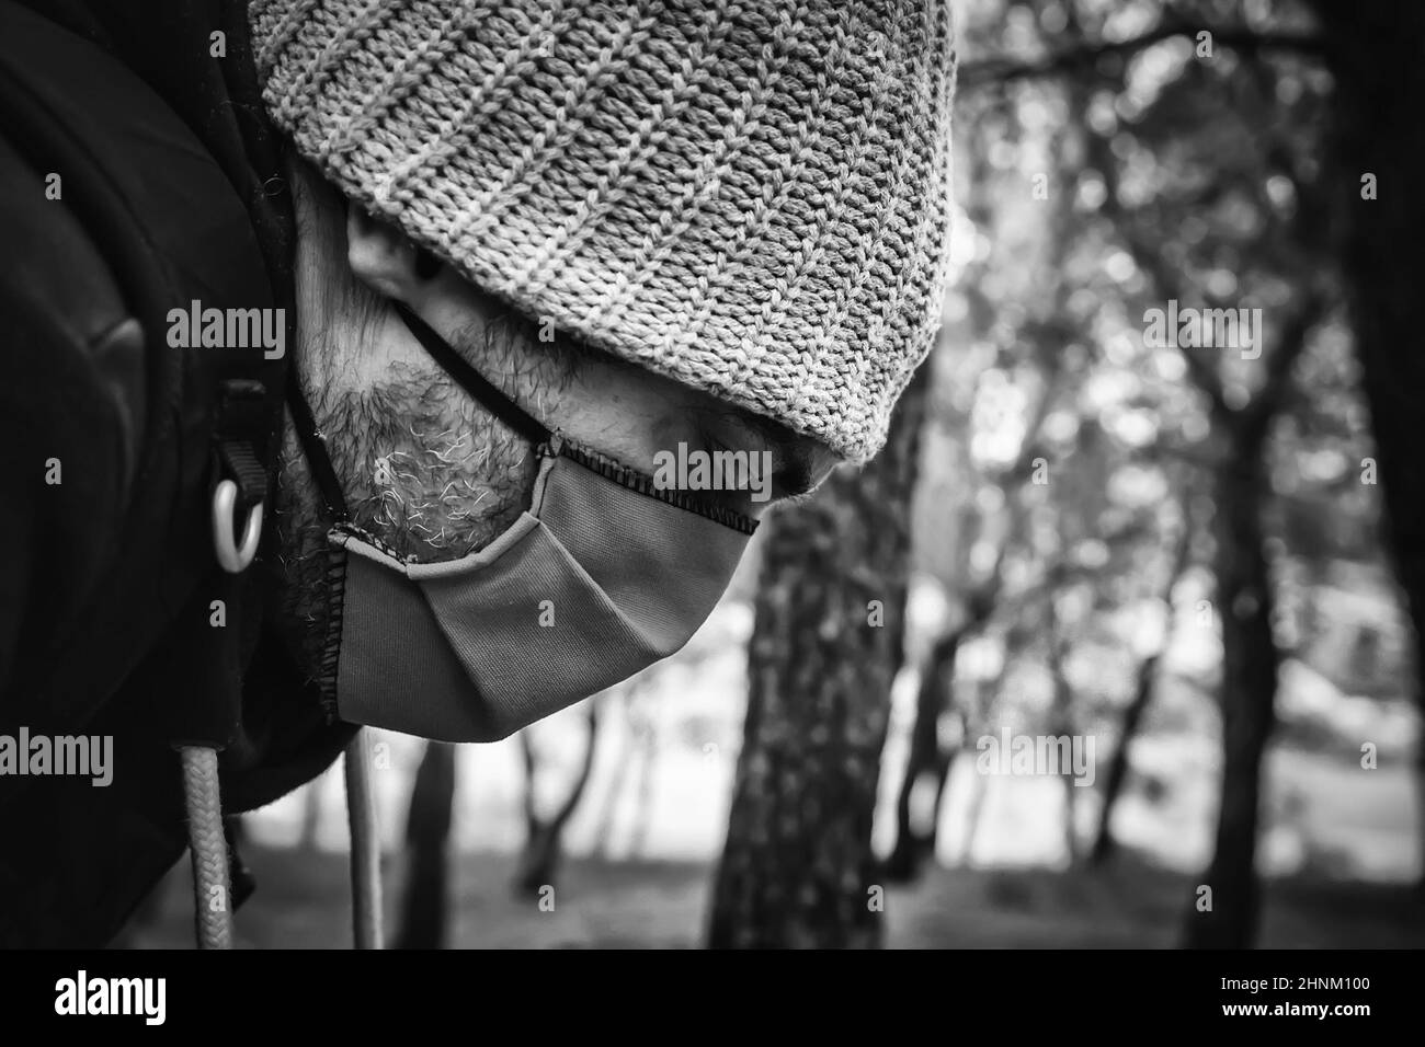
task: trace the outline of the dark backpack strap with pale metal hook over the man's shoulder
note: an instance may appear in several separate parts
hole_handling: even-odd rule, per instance
[[[50,638],[53,670],[21,697],[30,702],[21,715],[78,728],[142,675],[155,702],[151,729],[221,749],[239,732],[242,665],[259,628],[261,600],[245,571],[256,553],[249,527],[275,472],[288,359],[262,345],[194,345],[175,338],[175,318],[282,311],[285,346],[295,318],[279,295],[291,292],[274,288],[232,178],[148,84],[7,0],[0,41],[0,127],[31,170],[63,179],[66,207],[142,329],[147,372],[118,556],[81,618]],[[247,550],[229,560],[237,571],[224,570],[215,548],[219,493],[222,507],[231,499],[234,540],[217,544]]]

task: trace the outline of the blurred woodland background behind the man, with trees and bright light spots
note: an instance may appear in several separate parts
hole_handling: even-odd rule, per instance
[[[1334,7],[958,3],[955,281],[888,450],[678,657],[496,745],[372,732],[389,937],[1425,944],[1425,23]],[[1149,345],[1174,299],[1260,355]],[[1092,783],[986,769],[1005,732]],[[239,942],[348,946],[346,848],[339,766],[245,816]],[[187,875],[125,944],[190,940]]]

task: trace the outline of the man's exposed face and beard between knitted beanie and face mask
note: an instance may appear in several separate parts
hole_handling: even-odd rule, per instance
[[[567,339],[542,340],[537,318],[512,313],[449,266],[425,268],[405,236],[355,208],[345,236],[332,235],[341,218],[331,214],[333,199],[301,172],[296,188],[302,385],[353,521],[403,556],[453,560],[494,540],[530,504],[534,449],[436,366],[392,299],[546,426],[626,466],[654,474],[660,454],[680,444],[770,462],[770,501],[751,490],[700,491],[745,516],[811,490],[838,460],[708,393]],[[351,285],[332,293],[329,281]],[[284,632],[311,667],[325,621],[329,521],[291,427],[276,526]]]

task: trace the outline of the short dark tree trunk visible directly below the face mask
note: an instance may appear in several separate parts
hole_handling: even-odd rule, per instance
[[[443,949],[449,926],[446,845],[455,805],[455,746],[426,744],[406,818],[406,887],[396,949]]]

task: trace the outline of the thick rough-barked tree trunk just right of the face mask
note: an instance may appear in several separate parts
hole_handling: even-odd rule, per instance
[[[874,947],[871,850],[891,682],[902,662],[911,494],[929,365],[885,450],[774,513],[711,947]]]

